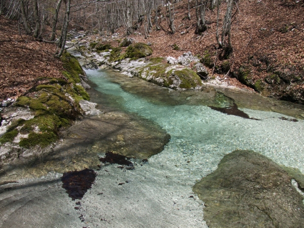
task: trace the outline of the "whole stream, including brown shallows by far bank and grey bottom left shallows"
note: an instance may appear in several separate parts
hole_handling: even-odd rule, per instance
[[[174,91],[112,70],[86,73],[99,109],[153,122],[170,134],[169,143],[133,170],[101,166],[82,200],[68,197],[56,172],[1,186],[0,227],[207,227],[192,187],[224,155],[254,150],[304,173],[301,105],[228,89]],[[233,103],[249,118],[212,108]],[[96,158],[106,152],[100,143],[89,147]]]

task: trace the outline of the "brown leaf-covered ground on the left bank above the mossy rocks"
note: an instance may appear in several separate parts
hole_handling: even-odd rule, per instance
[[[18,32],[17,21],[0,16],[0,101],[24,94],[44,78],[63,78],[62,62],[52,43]]]

